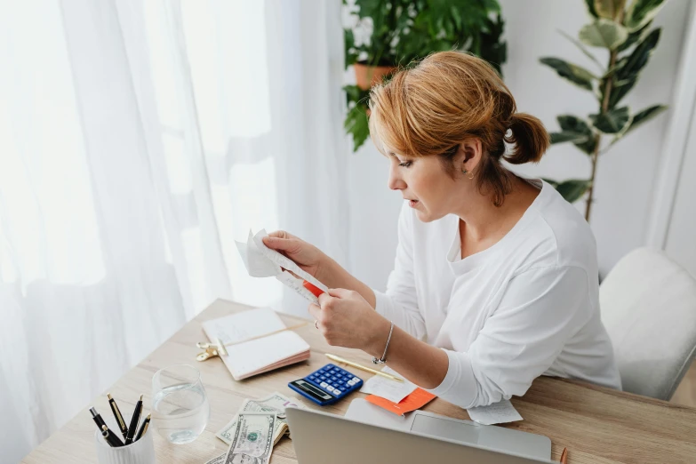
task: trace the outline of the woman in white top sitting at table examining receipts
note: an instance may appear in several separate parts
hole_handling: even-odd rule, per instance
[[[332,289],[309,307],[326,340],[384,356],[463,408],[522,396],[541,374],[620,388],[587,222],[500,163],[539,161],[539,119],[516,113],[496,72],[460,52],[399,71],[370,108],[388,187],[404,197],[387,292],[286,232],[264,239]]]

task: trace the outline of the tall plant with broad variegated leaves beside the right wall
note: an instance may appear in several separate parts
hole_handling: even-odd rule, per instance
[[[628,8],[626,0],[585,0],[585,3],[591,22],[580,29],[580,40],[564,36],[596,64],[597,72],[559,58],[540,61],[556,70],[558,76],[590,92],[597,101],[596,113],[587,118],[557,116],[561,131],[551,133],[551,143],[571,142],[589,156],[592,164],[589,179],[547,180],[571,203],[587,194],[585,219],[589,221],[599,156],[667,106],[652,105],[634,113],[621,105],[660,40],[660,28],[652,28],[652,20],[664,0],[633,0]],[[606,65],[586,45],[607,50]]]

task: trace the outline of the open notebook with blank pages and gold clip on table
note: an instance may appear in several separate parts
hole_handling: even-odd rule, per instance
[[[220,339],[226,345],[284,327],[283,321],[270,308],[250,309],[203,323],[203,330],[209,340]],[[235,380],[309,359],[308,343],[292,331],[274,333],[226,348],[229,356],[220,358]]]

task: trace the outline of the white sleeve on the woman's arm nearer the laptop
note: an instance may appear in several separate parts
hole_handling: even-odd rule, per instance
[[[463,408],[522,396],[595,308],[583,268],[532,268],[508,282],[467,352],[444,350],[449,368],[430,390]]]

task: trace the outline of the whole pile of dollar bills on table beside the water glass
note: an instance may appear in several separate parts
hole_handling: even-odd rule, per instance
[[[290,434],[285,407],[297,406],[280,393],[244,400],[239,412],[215,434],[229,445],[228,451],[205,464],[268,464],[273,446]]]

